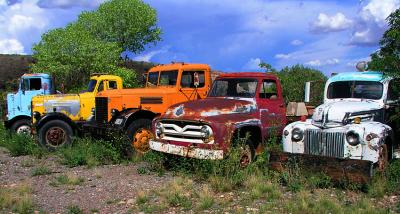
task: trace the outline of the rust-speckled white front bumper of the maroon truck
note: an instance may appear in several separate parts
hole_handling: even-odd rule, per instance
[[[197,159],[221,160],[224,158],[223,150],[210,150],[210,149],[201,149],[193,147],[190,148],[186,146],[165,144],[154,140],[150,140],[150,148],[158,152],[164,152],[168,154],[197,158]]]

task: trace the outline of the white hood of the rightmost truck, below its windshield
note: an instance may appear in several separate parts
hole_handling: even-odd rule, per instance
[[[315,109],[312,123],[317,126],[339,126],[347,113],[374,111],[381,108],[378,102],[372,100],[341,100],[324,103]]]

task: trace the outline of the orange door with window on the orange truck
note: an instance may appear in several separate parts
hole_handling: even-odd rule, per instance
[[[205,85],[205,71],[183,71],[179,90],[182,93],[181,101],[196,100],[206,97],[208,87]]]

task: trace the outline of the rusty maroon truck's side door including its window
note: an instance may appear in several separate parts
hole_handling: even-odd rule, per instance
[[[285,127],[285,108],[283,97],[276,80],[264,79],[258,94],[258,108],[264,133],[276,132],[280,135]]]

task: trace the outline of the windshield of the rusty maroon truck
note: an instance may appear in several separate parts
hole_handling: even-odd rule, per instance
[[[209,97],[254,97],[256,79],[225,78],[214,81]]]

